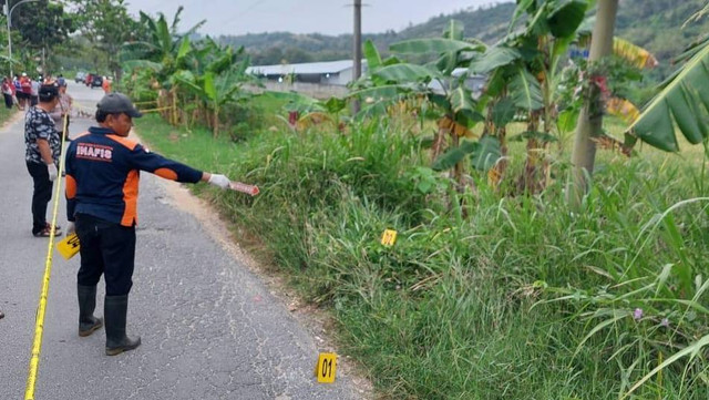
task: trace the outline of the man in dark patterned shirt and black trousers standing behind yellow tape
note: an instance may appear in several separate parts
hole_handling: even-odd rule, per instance
[[[61,235],[59,226],[47,223],[47,205],[52,198],[52,186],[59,174],[61,141],[50,112],[59,102],[59,90],[54,85],[43,85],[39,90],[39,105],[30,107],[24,115],[24,161],[32,176],[32,235],[49,237],[52,228]]]

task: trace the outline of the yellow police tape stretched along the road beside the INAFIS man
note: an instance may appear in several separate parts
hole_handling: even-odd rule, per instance
[[[64,115],[64,130],[66,132],[68,115]],[[62,187],[62,172],[64,171],[64,137],[62,135],[62,146],[59,158],[59,173],[56,175],[56,191],[54,191],[54,209],[52,211],[52,225],[56,226],[56,212],[59,211],[59,196]],[[42,293],[40,304],[37,308],[37,319],[34,322],[34,340],[32,340],[32,357],[30,358],[30,371],[27,377],[27,388],[24,400],[34,400],[34,386],[37,384],[37,372],[40,367],[40,352],[42,350],[42,335],[44,334],[44,311],[47,310],[47,297],[49,295],[49,279],[52,274],[52,247],[54,247],[54,229],[49,236],[47,249],[47,261],[44,263],[44,277],[42,278]]]

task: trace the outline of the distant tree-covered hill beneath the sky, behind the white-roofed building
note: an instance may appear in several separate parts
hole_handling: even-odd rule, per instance
[[[671,70],[670,60],[674,57],[701,34],[709,33],[709,19],[681,29],[682,23],[705,4],[706,0],[620,0],[616,35],[651,51],[660,62],[658,78],[662,78]],[[387,54],[391,43],[440,37],[448,22],[455,19],[465,25],[466,37],[492,44],[506,33],[514,9],[513,2],[469,9],[433,17],[400,32],[364,34],[363,39],[371,39]],[[588,18],[593,17],[594,12],[589,12]],[[225,44],[244,45],[256,65],[347,59],[351,57],[352,48],[351,34],[331,37],[276,32],[217,39]]]

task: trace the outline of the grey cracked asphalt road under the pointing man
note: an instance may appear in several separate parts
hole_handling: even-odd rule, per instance
[[[73,83],[69,93],[88,109],[103,94]],[[91,122],[74,119],[70,131]],[[22,399],[48,239],[30,232],[21,117],[0,130],[0,399]],[[312,336],[197,218],[174,206],[162,180],[141,177],[127,330],[143,343],[106,357],[103,329],[78,336],[79,257],[54,253],[35,399],[360,398],[341,371],[332,384],[315,381],[321,349]],[[59,209],[65,226],[63,202]],[[103,294],[102,280],[97,316]]]

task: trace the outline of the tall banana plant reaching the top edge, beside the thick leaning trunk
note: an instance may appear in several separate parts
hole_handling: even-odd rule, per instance
[[[527,155],[518,191],[537,192],[549,180],[545,153],[554,140],[559,65],[587,7],[586,0],[517,0],[507,37],[471,63],[472,73],[490,76],[482,100],[490,103],[485,134],[497,137],[503,150],[501,163],[489,175],[494,182],[505,173],[505,125],[516,114],[527,121],[520,136],[526,140]],[[517,27],[521,21],[522,29]]]

